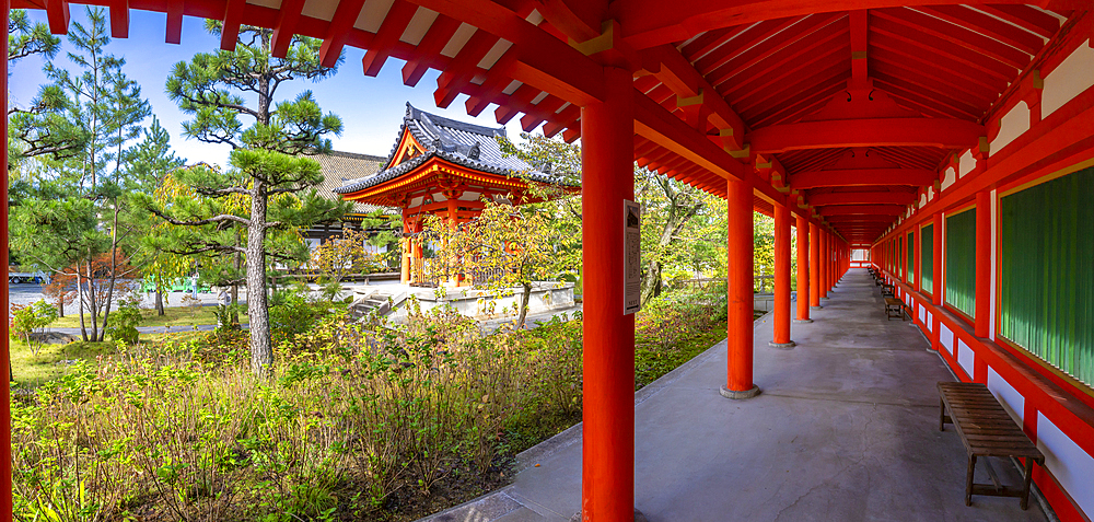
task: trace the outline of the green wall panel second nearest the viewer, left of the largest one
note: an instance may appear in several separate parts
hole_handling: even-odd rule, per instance
[[[976,210],[946,217],[946,304],[976,314]]]

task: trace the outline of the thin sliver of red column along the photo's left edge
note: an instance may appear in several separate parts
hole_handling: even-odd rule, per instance
[[[8,9],[11,2],[3,0],[3,26],[8,26]],[[3,56],[0,60],[0,82],[3,85],[3,96],[0,96],[0,114],[3,114],[0,124],[0,136],[8,137],[8,38],[3,39]],[[3,193],[0,201],[0,266],[3,267],[3,277],[0,277],[0,310],[4,316],[8,315],[8,146],[0,148],[0,166],[3,167],[3,175],[0,175],[0,193]],[[11,361],[9,349],[8,321],[0,321],[3,324],[0,330],[0,367],[7,367],[4,362]],[[3,381],[0,379],[0,381]],[[3,404],[3,413],[0,416],[0,521],[10,522],[12,518],[11,501],[11,383],[3,381],[0,384],[0,403]]]

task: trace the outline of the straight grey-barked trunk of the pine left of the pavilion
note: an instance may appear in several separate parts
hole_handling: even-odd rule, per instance
[[[266,185],[254,181],[251,189],[251,224],[247,227],[247,313],[251,315],[251,368],[260,376],[270,374],[274,347],[270,341],[266,297]]]

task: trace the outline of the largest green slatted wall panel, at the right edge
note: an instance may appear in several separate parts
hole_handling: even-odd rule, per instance
[[[1000,334],[1094,384],[1094,169],[1000,200]]]

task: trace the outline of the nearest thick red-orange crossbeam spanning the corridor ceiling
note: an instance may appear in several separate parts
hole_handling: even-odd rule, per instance
[[[963,119],[875,118],[771,125],[745,137],[756,154],[841,147],[938,147],[968,149],[987,136]]]

